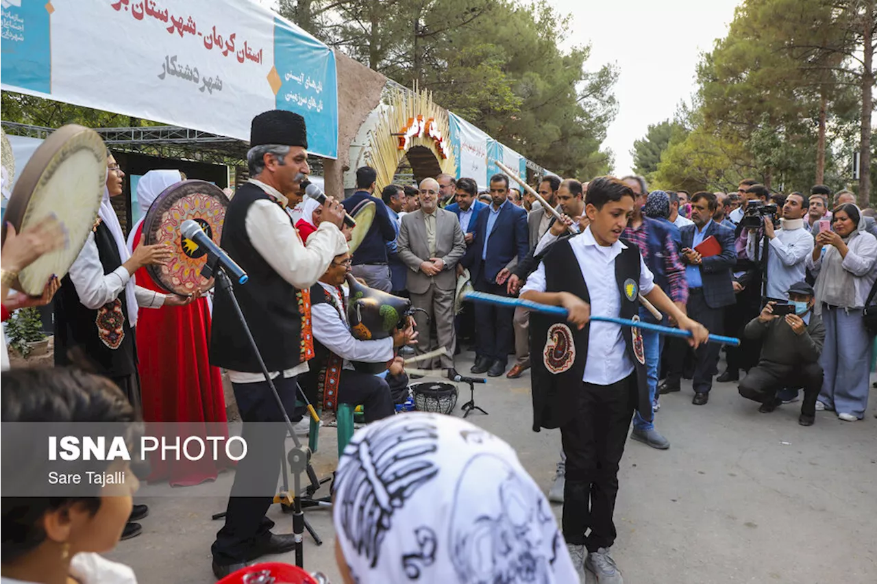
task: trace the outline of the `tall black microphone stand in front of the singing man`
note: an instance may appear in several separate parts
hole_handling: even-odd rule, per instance
[[[292,425],[292,421],[289,419],[289,414],[286,411],[286,408],[283,406],[283,401],[280,397],[280,394],[277,393],[277,388],[275,388],[274,381],[271,379],[271,374],[268,373],[267,366],[265,365],[265,361],[262,360],[261,353],[259,353],[259,346],[256,345],[256,341],[253,338],[253,333],[250,331],[250,327],[246,324],[246,318],[244,317],[244,313],[240,310],[240,304],[238,303],[238,298],[234,296],[234,287],[232,285],[232,279],[229,278],[228,274],[225,273],[225,267],[219,262],[219,257],[214,253],[210,253],[207,251],[207,263],[204,264],[203,269],[201,270],[201,275],[207,280],[210,280],[214,275],[216,276],[216,287],[218,290],[225,292],[228,296],[228,299],[232,302],[232,308],[234,309],[235,315],[238,317],[241,327],[244,329],[244,334],[246,335],[246,340],[250,345],[250,348],[253,349],[253,355],[256,360],[259,361],[259,367],[262,370],[262,374],[265,376],[265,381],[268,384],[268,387],[271,388],[271,393],[275,396],[275,402],[277,402],[277,407],[280,408],[280,411],[283,415],[283,422],[286,424],[287,431],[289,435],[292,437],[292,441],[295,443],[296,447],[289,451],[287,459],[289,459],[289,470],[293,473],[293,485],[294,491],[292,492],[293,499],[293,514],[292,514],[292,532],[293,536],[296,540],[296,566],[303,567],[304,564],[304,547],[303,547],[303,533],[304,530],[307,529],[310,536],[314,538],[314,541],[317,545],[323,545],[323,541],[317,536],[317,532],[310,526],[307,519],[304,517],[304,511],[302,509],[302,499],[299,496],[299,493],[302,488],[301,474],[307,472],[308,477],[310,479],[310,488],[313,488],[315,491],[320,488],[320,483],[316,479],[316,473],[313,471],[313,467],[310,466],[310,448],[303,447],[301,441],[299,441],[296,436],[295,427]],[[299,388],[301,391],[301,388]],[[282,499],[289,498],[289,476],[287,473],[287,459],[282,458],[282,479],[283,479],[283,490],[282,490]],[[309,489],[310,489],[309,488]],[[282,502],[282,500],[281,500]],[[225,516],[225,513],[217,513],[213,516],[213,519],[220,519]]]

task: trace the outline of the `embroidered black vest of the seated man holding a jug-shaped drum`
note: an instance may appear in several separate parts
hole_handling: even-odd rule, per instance
[[[339,311],[339,315],[346,314],[344,292],[336,288],[336,293],[323,288],[317,282],[310,288],[310,300],[313,306],[328,304],[332,310]],[[341,369],[344,368],[344,359],[332,353],[332,351],[314,339],[314,358],[308,362],[309,371],[299,377],[304,395],[314,404],[317,410],[335,411],[338,409],[338,390],[341,377]]]

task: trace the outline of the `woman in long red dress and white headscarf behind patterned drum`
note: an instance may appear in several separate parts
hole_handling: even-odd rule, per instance
[[[137,200],[142,217],[153,201],[168,187],[180,182],[178,170],[150,170],[137,183]],[[128,238],[134,252],[143,237],[141,219]],[[136,274],[144,288],[161,288],[141,267]],[[206,284],[206,282],[205,282]],[[201,297],[181,309],[155,310],[143,314],[137,327],[139,374],[146,422],[188,422],[210,424],[207,435],[225,435],[225,394],[222,373],[210,366],[210,309]],[[198,428],[190,429],[194,434]],[[175,487],[197,485],[217,478],[217,463],[210,457],[197,461],[174,457],[150,459],[147,481],[168,481]]]

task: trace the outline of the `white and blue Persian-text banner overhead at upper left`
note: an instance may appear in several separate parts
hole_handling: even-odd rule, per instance
[[[0,87],[248,140],[296,111],[338,156],[332,49],[241,0],[0,0]]]

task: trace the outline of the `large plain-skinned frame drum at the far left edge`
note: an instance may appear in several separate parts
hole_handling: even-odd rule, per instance
[[[39,145],[12,190],[0,242],[6,222],[20,233],[51,216],[61,223],[64,244],[21,270],[12,288],[39,296],[53,274],[68,273],[94,227],[106,180],[107,149],[94,130],[65,125]]]

